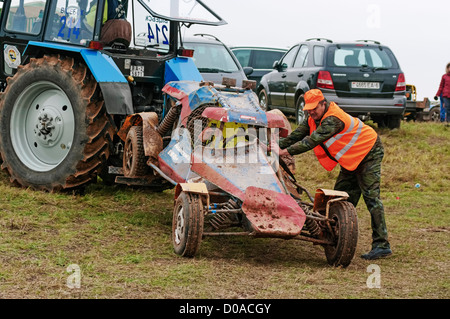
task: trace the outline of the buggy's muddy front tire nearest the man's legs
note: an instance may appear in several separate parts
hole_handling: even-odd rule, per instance
[[[334,245],[325,245],[325,256],[332,266],[347,267],[355,255],[358,243],[358,218],[355,207],[346,201],[330,206],[329,218],[335,221]]]

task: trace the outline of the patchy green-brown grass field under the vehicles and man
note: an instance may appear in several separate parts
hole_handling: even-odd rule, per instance
[[[173,190],[97,183],[49,194],[11,186],[2,172],[0,298],[449,298],[450,128],[405,122],[379,134],[389,258],[359,257],[371,244],[362,200],[348,268],[328,266],[321,246],[281,239],[206,238],[186,259],[170,241]],[[326,172],[312,152],[296,160],[307,189],[333,187],[338,169]],[[67,285],[74,264],[80,288]],[[372,264],[380,288],[367,285]]]

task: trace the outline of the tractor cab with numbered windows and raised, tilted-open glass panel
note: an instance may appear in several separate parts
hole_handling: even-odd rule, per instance
[[[226,24],[197,0],[1,0],[0,6],[5,76],[15,73],[30,41],[170,58],[180,46],[180,26]]]

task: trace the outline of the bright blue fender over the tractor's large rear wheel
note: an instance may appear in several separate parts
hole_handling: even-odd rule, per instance
[[[100,51],[67,44],[30,41],[25,48],[24,54],[29,50],[30,46],[57,50],[59,52],[77,52],[83,57],[97,82],[127,83],[127,80],[114,63],[114,60]]]

